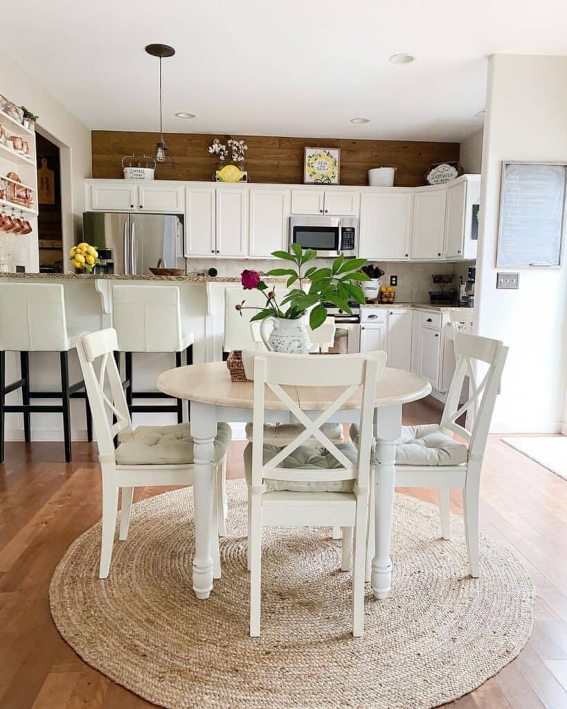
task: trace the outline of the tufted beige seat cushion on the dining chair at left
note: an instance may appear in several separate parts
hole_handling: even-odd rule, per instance
[[[213,462],[223,459],[232,431],[228,423],[219,423],[215,437]],[[182,465],[193,463],[191,425],[138,426],[118,435],[118,465]]]

